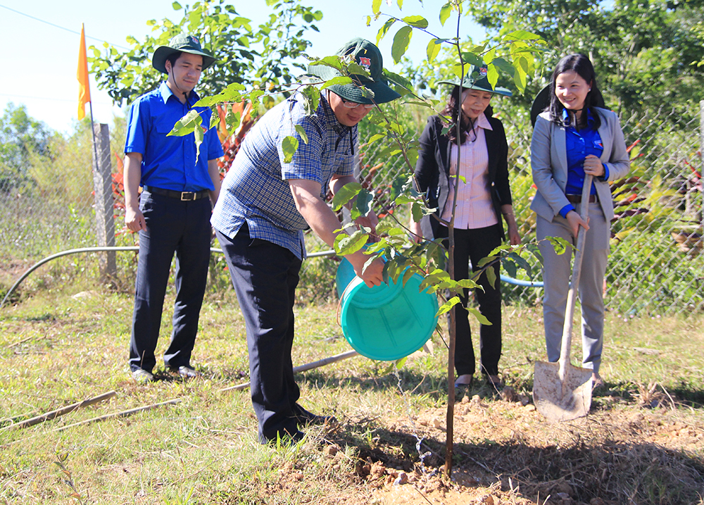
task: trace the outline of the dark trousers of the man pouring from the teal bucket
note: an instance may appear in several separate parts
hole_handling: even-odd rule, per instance
[[[243,225],[234,239],[216,230],[247,330],[252,404],[259,441],[294,435],[294,406],[301,391],[294,380],[294,300],[301,260],[289,249],[252,239]]]

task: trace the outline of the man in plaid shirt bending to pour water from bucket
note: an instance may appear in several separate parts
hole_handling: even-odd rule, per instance
[[[337,54],[366,68],[371,78],[356,75],[356,84],[323,90],[312,116],[306,116],[300,94],[268,111],[245,137],[211,220],[245,318],[251,397],[263,444],[301,439],[302,425],[330,420],[298,404],[291,362],[294,298],[306,254],[303,230],[310,226],[332,246],[341,225],[325,203],[327,188],[334,193],[355,181],[357,124],[375,104],[399,97],[386,85],[377,46],[354,39]],[[308,73],[323,80],[339,75],[328,66],[311,66]],[[305,141],[296,127],[306,132]],[[298,139],[298,149],[286,162],[282,142],[289,136]],[[376,223],[373,212],[358,220],[372,230]],[[369,256],[362,251],[347,258],[367,285],[382,282],[381,261],[365,269]]]

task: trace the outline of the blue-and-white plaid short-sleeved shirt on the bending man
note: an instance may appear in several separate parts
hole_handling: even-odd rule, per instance
[[[308,144],[296,132],[303,127]],[[282,142],[296,137],[298,149],[284,162]],[[303,230],[308,223],[296,209],[288,180],[320,182],[325,199],[334,174],[353,174],[357,127],[341,125],[324,93],[313,116],[306,116],[303,97],[295,94],[268,111],[247,133],[225,176],[210,223],[231,239],[246,222],[252,238],[286,247],[298,258],[306,256]]]

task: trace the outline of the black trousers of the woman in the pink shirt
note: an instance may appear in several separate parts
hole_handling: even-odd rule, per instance
[[[479,270],[477,264],[482,258],[501,245],[501,225],[494,225],[474,230],[458,230],[455,228],[455,279],[468,279],[469,262],[472,261],[472,271]],[[498,279],[499,267],[494,266]],[[500,281],[499,281],[500,282]],[[490,285],[486,273],[479,278],[482,289],[474,289],[474,296],[479,304],[479,312],[486,317],[491,325],[481,325],[479,328],[479,349],[481,353],[482,373],[498,374],[498,360],[501,358],[501,289],[498,285]],[[457,375],[474,374],[474,348],[472,347],[472,331],[470,330],[469,313],[465,309],[468,290],[464,289],[462,306],[455,305],[456,340],[455,340],[455,370]],[[473,318],[474,316],[472,316]]]

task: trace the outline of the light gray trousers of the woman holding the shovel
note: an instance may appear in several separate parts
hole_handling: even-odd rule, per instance
[[[582,366],[598,373],[604,342],[603,280],[609,253],[610,227],[598,204],[589,206],[589,230],[582,256],[582,274],[579,278],[579,304],[582,306]],[[552,221],[538,216],[537,238],[562,237],[577,246],[567,220],[555,216]],[[567,292],[572,275],[572,249],[555,254],[553,245],[543,241],[539,245],[543,255],[543,323],[548,361],[560,359],[562,325],[565,323]]]

